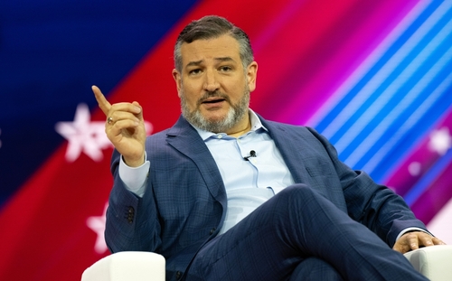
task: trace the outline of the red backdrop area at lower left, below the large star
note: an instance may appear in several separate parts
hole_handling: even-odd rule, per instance
[[[1,213],[1,280],[80,280],[80,270],[102,257],[86,220],[105,207],[111,150],[99,163],[80,155],[72,164],[65,150],[62,145]]]

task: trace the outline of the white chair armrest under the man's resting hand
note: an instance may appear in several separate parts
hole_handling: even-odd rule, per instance
[[[404,255],[416,270],[432,281],[451,280],[452,245],[418,248]]]

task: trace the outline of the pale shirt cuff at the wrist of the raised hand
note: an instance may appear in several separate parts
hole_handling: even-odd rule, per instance
[[[144,164],[138,167],[127,166],[121,155],[118,173],[119,178],[126,185],[128,191],[134,192],[139,197],[143,197],[146,191],[146,179],[150,165],[150,162],[146,160]]]

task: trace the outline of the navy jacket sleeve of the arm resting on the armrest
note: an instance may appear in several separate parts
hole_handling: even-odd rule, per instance
[[[340,179],[349,216],[376,233],[390,247],[403,229],[426,229],[407,203],[390,188],[373,182],[363,171],[353,171],[338,159],[337,152],[324,136],[309,128],[324,145]]]

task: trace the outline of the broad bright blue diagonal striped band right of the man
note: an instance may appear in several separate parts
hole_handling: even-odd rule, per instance
[[[435,1],[314,125],[345,163],[377,180],[452,104],[452,2]]]

